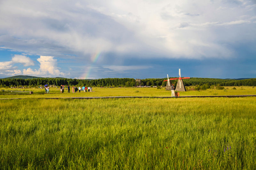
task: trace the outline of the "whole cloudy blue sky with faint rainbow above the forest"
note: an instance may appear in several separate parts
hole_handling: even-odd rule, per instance
[[[0,1],[0,78],[255,78],[256,0]]]

